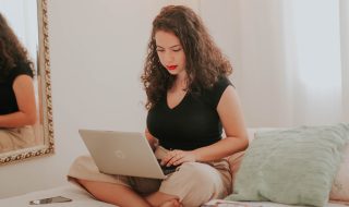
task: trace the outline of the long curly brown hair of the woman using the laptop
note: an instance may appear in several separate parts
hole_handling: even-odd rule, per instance
[[[232,68],[208,34],[202,20],[183,5],[168,5],[153,21],[152,36],[141,80],[147,95],[146,109],[153,108],[172,87],[176,76],[160,63],[155,34],[164,31],[174,34],[185,54],[188,92],[200,93],[212,87],[219,76],[231,74]]]

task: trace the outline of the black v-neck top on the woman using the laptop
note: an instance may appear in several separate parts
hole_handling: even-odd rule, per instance
[[[232,85],[221,77],[200,94],[186,93],[173,108],[164,96],[147,114],[147,129],[167,149],[192,150],[212,145],[221,138],[222,126],[217,105],[225,89]]]

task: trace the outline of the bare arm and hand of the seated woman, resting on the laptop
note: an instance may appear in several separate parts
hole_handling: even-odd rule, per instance
[[[185,161],[213,161],[248,148],[248,133],[239,98],[232,86],[228,86],[221,95],[217,111],[226,138],[192,151],[172,150],[163,159],[163,163],[177,166]]]

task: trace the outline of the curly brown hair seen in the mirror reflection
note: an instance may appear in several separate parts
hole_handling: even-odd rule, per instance
[[[27,64],[34,73],[27,50],[0,13],[0,81],[4,81],[9,71],[20,63]]]

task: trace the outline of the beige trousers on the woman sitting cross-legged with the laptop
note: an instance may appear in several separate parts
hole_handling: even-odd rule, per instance
[[[160,159],[167,151],[158,147],[155,155]],[[178,196],[184,207],[197,207],[231,193],[231,173],[226,159],[206,163],[184,162],[165,180],[158,180],[104,174],[89,156],[81,156],[71,166],[68,178],[73,182],[81,179],[125,185],[141,195],[159,191]]]

